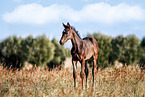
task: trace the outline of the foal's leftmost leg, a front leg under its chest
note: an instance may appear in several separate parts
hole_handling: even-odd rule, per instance
[[[74,88],[77,87],[77,61],[72,60],[73,65],[73,78],[74,78]]]

